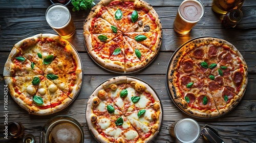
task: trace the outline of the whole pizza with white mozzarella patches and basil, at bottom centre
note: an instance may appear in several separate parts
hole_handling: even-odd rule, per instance
[[[162,124],[156,92],[133,77],[114,77],[91,94],[86,120],[100,142],[150,142]]]

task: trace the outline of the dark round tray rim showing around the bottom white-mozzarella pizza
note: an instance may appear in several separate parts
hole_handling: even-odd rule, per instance
[[[121,77],[121,76],[120,76],[120,77]],[[154,91],[154,93],[156,94],[157,98],[158,98],[159,101],[160,101],[160,98],[159,98],[157,92],[155,91],[155,89],[154,89],[150,84],[148,84],[148,83],[146,83],[145,81],[143,81],[143,80],[141,80],[141,79],[139,79],[139,78],[136,78],[136,77],[132,77],[132,76],[125,76],[125,77],[127,77],[127,78],[132,78],[132,79],[135,79],[135,80],[138,80],[138,81],[140,81],[140,82],[143,82],[143,83],[147,84],[147,85]],[[117,77],[113,77],[113,78],[117,78]],[[110,78],[110,79],[112,79],[112,78]],[[108,79],[108,80],[110,80],[110,79]],[[99,85],[92,91],[92,94],[93,94],[93,92],[94,92],[97,88],[99,88],[103,83],[105,83],[105,82],[108,81],[108,80],[105,80],[104,82],[102,82],[101,84],[99,84]],[[86,111],[87,111],[87,106],[88,106],[88,104],[86,105]],[[161,125],[159,125],[159,126],[160,126],[159,129],[161,130],[162,124],[163,124],[163,110],[162,110],[162,109],[163,109],[163,106],[162,106],[161,101],[160,101],[160,106],[161,106],[161,112],[162,112],[162,122],[161,122]],[[86,119],[87,119],[87,118],[86,118]],[[86,121],[87,127],[88,127],[88,122],[90,122],[90,121]],[[160,130],[159,130],[159,132],[160,132]],[[92,134],[92,136],[95,138],[95,140],[97,140],[98,142],[100,142],[100,141],[93,135],[91,129],[89,129],[89,131],[90,131],[90,133]],[[159,133],[159,132],[158,132],[158,133]],[[158,134],[158,133],[157,133],[157,134]],[[152,140],[151,140],[150,142],[152,142],[156,137],[157,137],[157,135],[156,135],[154,138],[152,138]]]

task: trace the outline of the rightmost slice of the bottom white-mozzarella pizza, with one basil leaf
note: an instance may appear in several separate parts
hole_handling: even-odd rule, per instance
[[[156,102],[144,109],[126,112],[124,115],[130,116],[144,125],[159,131],[162,121],[162,112],[160,111],[160,108],[160,103]]]

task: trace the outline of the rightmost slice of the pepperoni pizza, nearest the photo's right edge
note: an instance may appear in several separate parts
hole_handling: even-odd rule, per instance
[[[232,70],[232,67],[222,66],[218,64],[208,78],[216,81],[219,85],[226,87],[241,98],[244,95],[248,82],[247,66]]]

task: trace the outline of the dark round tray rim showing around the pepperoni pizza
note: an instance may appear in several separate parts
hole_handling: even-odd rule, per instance
[[[167,86],[167,90],[168,90],[168,94],[169,94],[169,97],[170,99],[172,99],[173,103],[184,113],[186,113],[187,115],[190,115],[190,116],[193,116],[193,117],[196,117],[196,118],[216,118],[216,117],[220,117],[220,116],[223,116],[225,115],[226,113],[230,112],[231,110],[233,110],[234,107],[236,107],[238,104],[236,104],[236,106],[233,106],[233,108],[231,110],[229,110],[228,112],[225,112],[219,116],[214,116],[214,117],[201,117],[201,116],[196,116],[196,115],[193,115],[193,114],[189,114],[187,112],[185,112],[180,106],[178,106],[178,104],[174,101],[173,99],[173,96],[172,96],[172,87],[170,87],[169,85],[169,79],[168,79],[168,75],[172,74],[172,72],[170,72],[170,64],[172,64],[172,61],[173,61],[173,58],[176,56],[176,54],[179,52],[179,50],[186,44],[194,41],[194,40],[198,40],[198,39],[201,39],[201,38],[216,38],[216,39],[220,39],[220,38],[217,38],[217,37],[212,37],[212,36],[202,36],[202,37],[196,37],[196,38],[193,38],[193,39],[190,39],[188,41],[186,41],[185,43],[183,43],[181,46],[178,47],[178,49],[174,52],[173,56],[170,58],[169,60],[169,63],[168,63],[168,66],[167,66],[167,71],[166,71],[166,86]],[[220,40],[223,40],[223,39],[220,39]],[[223,40],[223,41],[226,41],[226,40]],[[228,42],[228,41],[226,41]],[[229,42],[228,42],[229,43]],[[231,43],[229,43],[231,44]],[[232,45],[232,44],[231,44]],[[233,45],[232,45],[233,46]],[[234,47],[234,46],[233,46]],[[248,76],[247,76],[247,80],[248,80]],[[244,94],[244,93],[243,93]],[[241,100],[240,100],[241,101]]]

